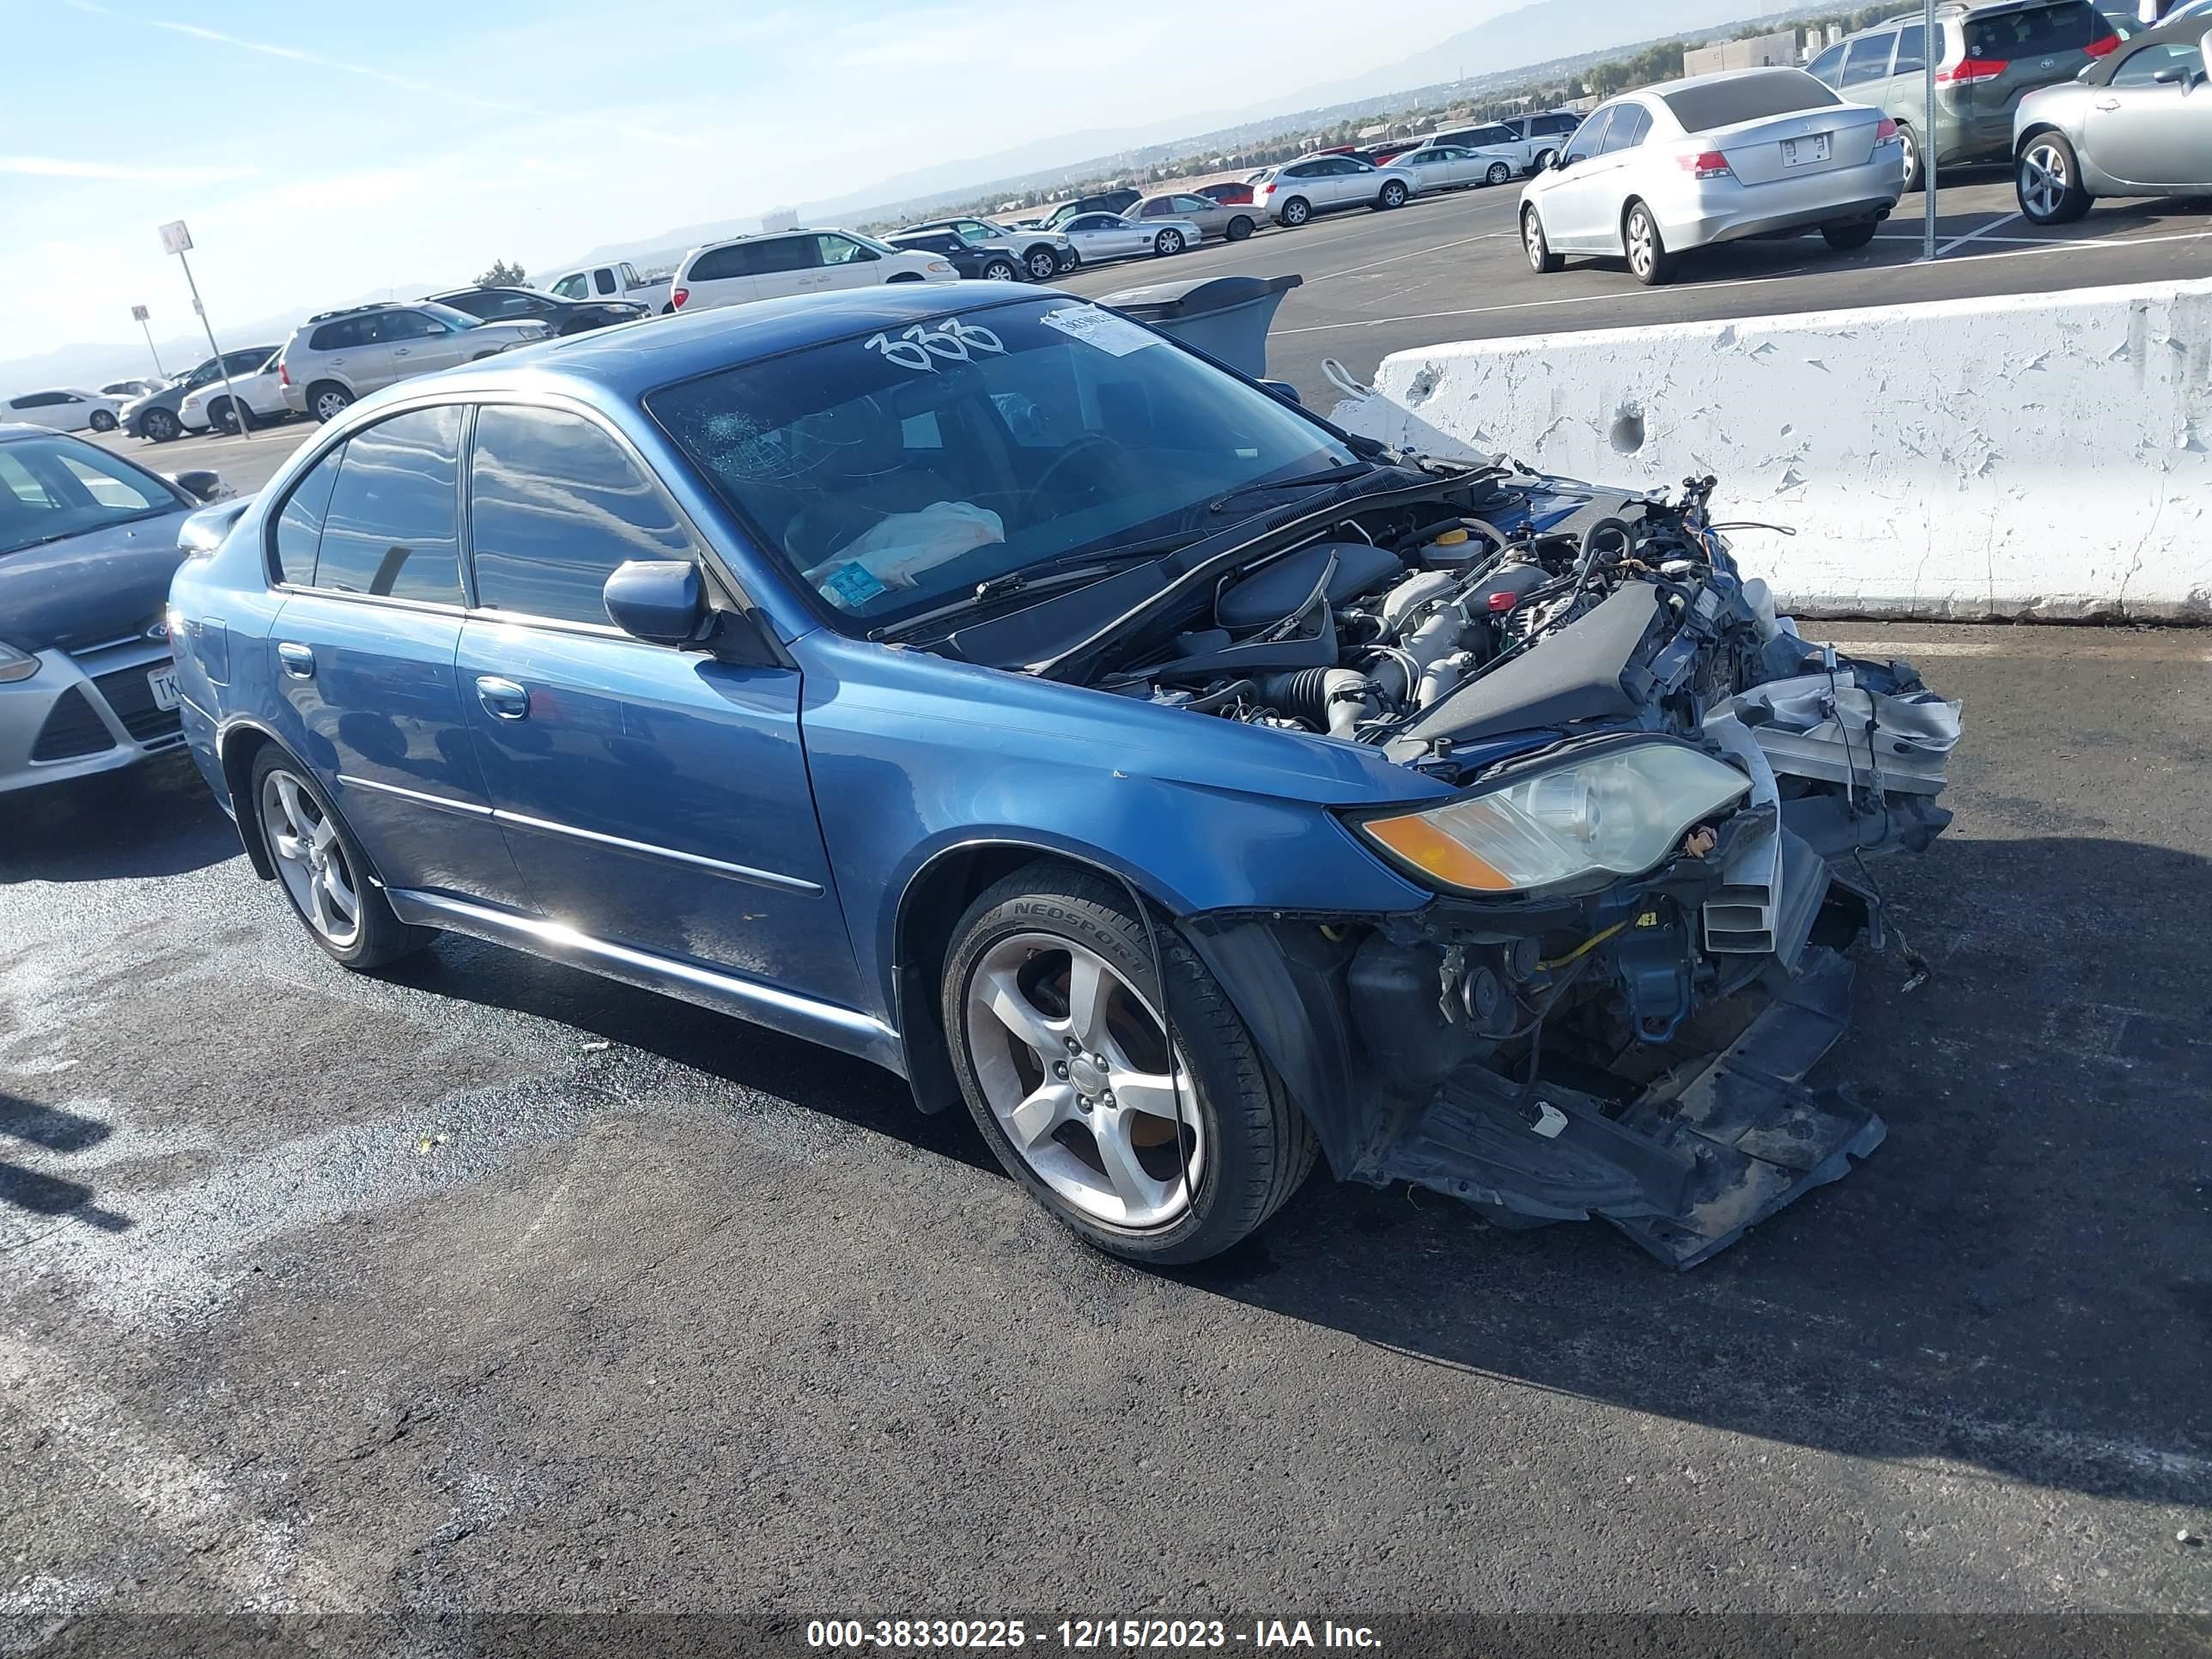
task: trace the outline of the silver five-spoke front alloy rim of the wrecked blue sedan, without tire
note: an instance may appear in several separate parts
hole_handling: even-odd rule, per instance
[[[1060,1199],[1117,1228],[1172,1225],[1206,1179],[1188,1062],[1170,1077],[1152,1004],[1097,951],[1011,933],[967,982],[975,1079],[1006,1141]]]

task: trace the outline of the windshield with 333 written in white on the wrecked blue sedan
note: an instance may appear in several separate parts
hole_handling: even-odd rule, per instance
[[[1265,392],[1066,299],[721,369],[646,407],[765,551],[869,628],[1011,571],[1223,529],[1223,493],[1356,462]]]

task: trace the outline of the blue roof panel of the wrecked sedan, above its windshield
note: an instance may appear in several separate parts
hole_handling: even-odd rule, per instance
[[[827,341],[898,330],[947,312],[975,312],[1024,299],[1055,296],[1029,283],[883,283],[878,288],[832,290],[721,305],[710,312],[675,312],[615,327],[571,334],[542,345],[467,363],[438,376],[438,385],[467,387],[484,380],[533,385],[546,392],[635,403],[655,387],[695,374],[759,363]],[[1071,294],[1057,294],[1084,305]],[[422,387],[422,380],[409,385]]]

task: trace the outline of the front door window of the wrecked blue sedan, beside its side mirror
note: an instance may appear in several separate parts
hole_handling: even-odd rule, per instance
[[[626,560],[690,560],[659,484],[582,416],[480,409],[469,451],[476,602],[606,624],[602,588]]]

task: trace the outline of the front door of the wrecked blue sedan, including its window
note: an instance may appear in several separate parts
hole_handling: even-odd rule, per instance
[[[799,672],[650,646],[606,617],[624,560],[701,557],[650,469],[584,414],[484,405],[469,546],[462,699],[538,909],[849,1004]]]

